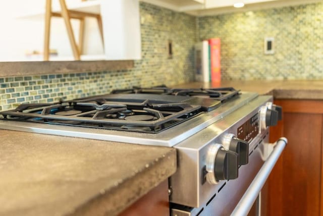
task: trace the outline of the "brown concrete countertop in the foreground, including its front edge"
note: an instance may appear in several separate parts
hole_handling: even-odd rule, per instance
[[[0,130],[0,215],[116,215],[176,171],[176,150]]]

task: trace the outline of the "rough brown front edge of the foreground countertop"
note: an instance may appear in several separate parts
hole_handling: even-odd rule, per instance
[[[117,215],[173,175],[176,172],[176,164],[176,149],[170,148],[167,154],[139,172],[135,178],[126,179],[104,194],[93,197],[67,215]]]

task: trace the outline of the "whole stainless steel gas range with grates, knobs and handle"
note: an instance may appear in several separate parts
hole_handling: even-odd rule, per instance
[[[281,108],[271,96],[234,88],[115,90],[0,113],[0,128],[144,145],[172,146],[172,215],[243,215],[287,143],[268,144]],[[257,212],[260,212],[258,205]]]

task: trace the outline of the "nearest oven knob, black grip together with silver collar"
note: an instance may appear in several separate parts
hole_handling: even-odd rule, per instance
[[[238,178],[238,154],[220,144],[212,145],[206,156],[206,171],[206,181],[210,184]]]

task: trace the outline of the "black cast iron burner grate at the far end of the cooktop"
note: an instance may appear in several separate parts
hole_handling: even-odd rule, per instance
[[[209,97],[214,100],[226,102],[230,98],[239,95],[239,90],[232,87],[224,88],[169,88],[166,85],[155,86],[151,88],[141,88],[134,86],[130,89],[116,89],[112,94],[164,94],[193,97]]]

